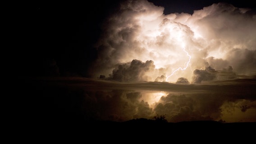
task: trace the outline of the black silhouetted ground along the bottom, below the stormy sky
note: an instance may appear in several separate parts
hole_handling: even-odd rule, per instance
[[[30,127],[27,127],[30,126]],[[28,130],[28,131],[27,131]],[[39,121],[22,127],[20,133],[33,139],[82,139],[95,143],[164,143],[166,140],[216,143],[244,142],[255,140],[256,122],[220,123],[217,121],[183,121],[177,123],[134,119],[124,122],[81,121],[76,118],[59,121]],[[75,139],[73,139],[75,137]],[[78,139],[77,139],[78,138]],[[48,140],[47,140],[48,141]]]

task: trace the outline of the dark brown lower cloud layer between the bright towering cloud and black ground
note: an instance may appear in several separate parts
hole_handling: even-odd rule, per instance
[[[78,77],[23,81],[31,89],[30,92],[28,89],[23,91],[38,99],[34,108],[27,112],[37,110],[39,118],[46,121],[51,121],[50,117],[57,120],[80,117],[81,121],[128,121],[153,119],[157,115],[164,115],[169,122],[256,121],[255,78],[216,81],[207,85],[125,83]]]

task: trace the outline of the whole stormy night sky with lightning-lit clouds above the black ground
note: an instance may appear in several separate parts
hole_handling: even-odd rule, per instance
[[[14,15],[29,121],[256,122],[251,0],[41,1]]]

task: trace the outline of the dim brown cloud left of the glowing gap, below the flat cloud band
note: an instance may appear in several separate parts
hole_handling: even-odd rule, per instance
[[[86,91],[83,111],[87,120],[127,121],[153,117],[152,108],[140,92],[128,90]]]

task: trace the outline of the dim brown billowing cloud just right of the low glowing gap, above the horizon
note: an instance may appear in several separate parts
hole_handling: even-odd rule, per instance
[[[187,97],[185,94],[168,94],[161,97],[154,111],[165,115],[170,122],[216,120],[221,115],[222,101],[210,98],[203,102],[202,94]],[[209,98],[209,97],[208,97]],[[211,103],[211,102],[215,103]]]

